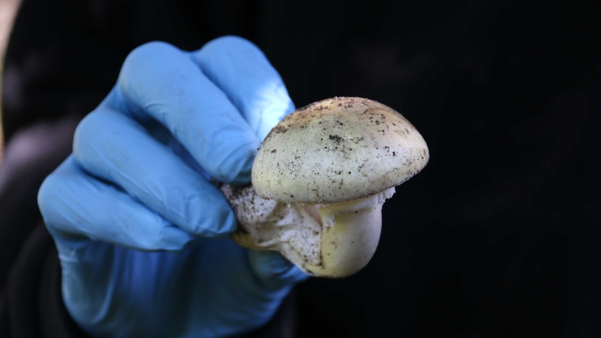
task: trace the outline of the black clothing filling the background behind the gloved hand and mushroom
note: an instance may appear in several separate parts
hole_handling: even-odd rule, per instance
[[[370,264],[298,285],[259,334],[601,337],[600,14],[597,1],[24,0],[3,74],[0,335],[83,336],[36,192],[128,52],[236,34],[299,107],[378,100],[431,153],[385,204]],[[40,135],[41,150],[11,152]]]

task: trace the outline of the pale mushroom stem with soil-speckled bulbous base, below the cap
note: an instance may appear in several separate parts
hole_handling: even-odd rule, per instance
[[[302,205],[263,199],[252,185],[222,185],[243,247],[276,250],[309,275],[346,277],[372,259],[379,243],[382,205],[395,188],[333,204]]]

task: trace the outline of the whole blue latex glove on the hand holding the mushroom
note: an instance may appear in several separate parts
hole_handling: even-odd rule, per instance
[[[40,210],[71,316],[100,337],[222,337],[264,325],[307,276],[229,238],[236,217],[208,178],[250,181],[260,141],[294,109],[246,40],[196,52],[135,49],[78,125]]]

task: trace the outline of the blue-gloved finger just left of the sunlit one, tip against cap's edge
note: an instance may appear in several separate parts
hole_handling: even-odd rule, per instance
[[[172,45],[147,43],[134,49],[101,106],[159,121],[217,180],[250,180],[259,139],[190,55]]]

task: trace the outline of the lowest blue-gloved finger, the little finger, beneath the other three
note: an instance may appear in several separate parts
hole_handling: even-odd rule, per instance
[[[90,239],[149,251],[178,250],[195,240],[125,192],[84,174],[73,156],[43,182],[38,205],[61,259]]]

